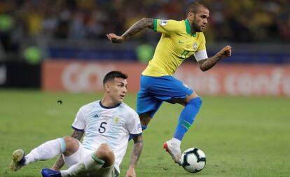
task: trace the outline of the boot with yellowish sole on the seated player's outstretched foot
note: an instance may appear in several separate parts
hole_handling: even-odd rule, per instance
[[[25,152],[22,149],[15,150],[12,153],[12,162],[9,167],[11,171],[18,171],[25,164]]]

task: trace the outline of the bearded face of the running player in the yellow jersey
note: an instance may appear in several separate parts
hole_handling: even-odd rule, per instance
[[[200,8],[200,10],[193,15],[193,29],[195,32],[202,32],[203,29],[205,29],[208,18],[209,10],[207,8]]]

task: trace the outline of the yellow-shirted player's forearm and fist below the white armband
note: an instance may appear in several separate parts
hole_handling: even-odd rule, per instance
[[[200,65],[200,69],[202,71],[207,71],[211,69],[217,62],[219,62],[222,57],[230,57],[230,55],[232,55],[232,48],[227,45],[219,52],[217,52],[213,57],[198,61],[198,64]]]

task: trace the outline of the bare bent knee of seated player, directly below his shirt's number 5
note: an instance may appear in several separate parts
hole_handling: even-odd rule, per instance
[[[104,160],[104,167],[109,167],[115,162],[115,155],[113,153],[113,150],[111,150],[109,145],[106,143],[102,143],[99,148],[97,148],[95,155],[99,159]]]

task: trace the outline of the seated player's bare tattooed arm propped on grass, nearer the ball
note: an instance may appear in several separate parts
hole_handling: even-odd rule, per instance
[[[136,176],[134,168],[139,160],[143,148],[143,140],[141,135],[134,137],[133,140],[134,140],[134,148],[131,155],[130,166],[129,169],[127,170],[126,177]]]

